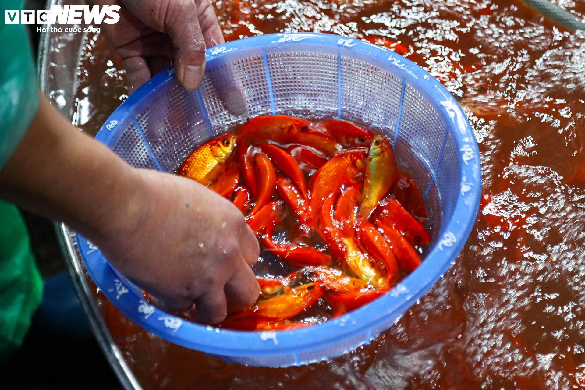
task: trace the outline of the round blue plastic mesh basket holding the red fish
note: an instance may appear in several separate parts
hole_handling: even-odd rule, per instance
[[[230,113],[216,91],[226,80],[244,92],[242,115]],[[428,291],[472,229],[481,172],[469,122],[435,78],[393,51],[332,34],[271,34],[209,49],[197,92],[185,91],[173,71],[165,71],[126,99],[96,139],[136,167],[175,172],[205,140],[267,114],[345,119],[393,140],[401,168],[423,192],[435,229],[422,265],[388,294],[318,326],[285,332],[223,330],[154,308],[99,249],[81,236],[78,245],[98,287],[149,332],[233,363],[284,367],[333,358],[369,343]]]

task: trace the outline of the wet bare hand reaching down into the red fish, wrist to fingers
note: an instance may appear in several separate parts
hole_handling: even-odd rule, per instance
[[[250,265],[259,245],[242,213],[187,178],[135,170],[136,196],[92,232],[108,261],[163,309],[188,310],[198,322],[221,322],[228,308],[259,296]],[[118,207],[117,205],[115,207]]]

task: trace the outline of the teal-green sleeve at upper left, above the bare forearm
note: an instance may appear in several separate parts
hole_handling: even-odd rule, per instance
[[[20,0],[2,0],[2,13],[21,9]],[[35,63],[27,25],[0,23],[0,169],[18,146],[37,109]]]

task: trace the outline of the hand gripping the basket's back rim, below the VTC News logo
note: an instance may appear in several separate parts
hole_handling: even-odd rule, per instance
[[[94,0],[119,5],[120,20],[103,32],[122,58],[132,93],[173,61],[177,78],[195,91],[205,71],[205,49],[224,43],[209,0]]]

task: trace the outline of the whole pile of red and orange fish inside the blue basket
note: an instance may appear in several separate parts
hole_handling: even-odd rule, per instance
[[[258,277],[259,300],[230,313],[227,329],[310,326],[294,318],[319,299],[334,316],[357,309],[414,271],[417,248],[431,239],[421,194],[390,141],[342,120],[259,116],[199,146],[177,174],[231,199],[261,248],[297,269]],[[287,213],[296,225],[279,242]]]

